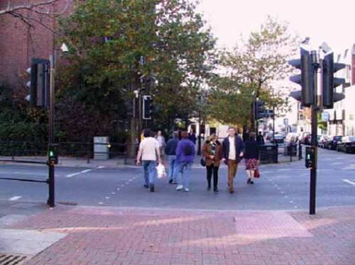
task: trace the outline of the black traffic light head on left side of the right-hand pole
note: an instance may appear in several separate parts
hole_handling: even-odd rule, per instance
[[[314,69],[310,52],[300,48],[300,59],[290,60],[288,63],[293,67],[300,69],[301,74],[290,77],[290,81],[301,85],[301,93],[291,93],[290,96],[301,101],[302,106],[309,107],[315,100],[314,89]]]

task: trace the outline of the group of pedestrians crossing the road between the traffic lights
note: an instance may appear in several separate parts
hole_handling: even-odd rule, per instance
[[[207,189],[219,192],[218,179],[219,167],[224,162],[228,167],[228,188],[230,193],[234,193],[234,178],[241,159],[246,159],[246,172],[248,175],[247,184],[253,184],[255,171],[258,168],[259,144],[256,142],[255,133],[249,133],[248,139],[243,141],[236,133],[235,128],[229,128],[229,136],[219,142],[217,135],[212,134],[209,140],[204,142],[202,147],[202,156],[206,165]],[[163,151],[168,155],[168,181],[170,184],[177,184],[176,190],[190,191],[190,172],[195,158],[195,141],[193,133],[182,132],[179,140],[178,132],[173,133],[173,137],[168,140],[163,147],[161,141],[151,135],[151,130],[144,130],[144,139],[139,145],[137,155],[137,165],[143,167],[143,176],[145,188],[154,191],[154,182],[158,163],[162,163]],[[158,137],[161,133],[158,133]],[[194,141],[195,140],[195,141]]]

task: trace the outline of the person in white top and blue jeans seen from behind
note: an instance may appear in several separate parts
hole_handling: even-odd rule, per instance
[[[139,150],[137,154],[137,166],[142,164],[143,176],[144,176],[144,188],[151,188],[151,192],[154,191],[154,182],[156,176],[157,166],[156,160],[158,157],[158,162],[162,163],[160,158],[159,143],[151,136],[151,130],[144,130],[144,139],[139,145]],[[142,161],[141,161],[142,159]]]

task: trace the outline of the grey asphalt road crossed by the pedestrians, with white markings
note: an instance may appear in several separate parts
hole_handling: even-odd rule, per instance
[[[317,207],[355,204],[355,154],[319,150]],[[195,165],[198,166],[198,165]],[[0,164],[0,177],[45,180],[48,168],[37,165]],[[0,200],[45,202],[48,185],[0,180]],[[55,168],[57,203],[144,208],[221,210],[308,209],[310,171],[304,160],[261,166],[261,178],[246,184],[244,163],[239,165],[235,193],[229,193],[226,167],[219,171],[219,193],[207,191],[206,169],[192,169],[190,192],[175,191],[167,179],[159,179],[155,193],[143,188],[140,168]]]

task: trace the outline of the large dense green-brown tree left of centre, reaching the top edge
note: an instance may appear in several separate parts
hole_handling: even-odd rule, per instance
[[[78,1],[60,28],[60,42],[70,47],[70,64],[60,71],[60,98],[84,103],[97,117],[112,115],[121,102],[124,119],[134,91],[150,94],[154,124],[161,127],[195,108],[215,40],[190,1]],[[145,90],[144,79],[153,80]],[[137,120],[131,122],[136,130]]]

